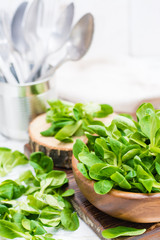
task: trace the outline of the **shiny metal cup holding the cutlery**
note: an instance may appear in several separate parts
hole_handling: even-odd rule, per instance
[[[28,139],[28,125],[46,111],[47,100],[56,99],[55,77],[27,85],[0,82],[0,133],[18,140]]]

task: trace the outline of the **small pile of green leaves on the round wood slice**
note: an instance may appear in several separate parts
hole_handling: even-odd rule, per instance
[[[94,118],[103,118],[113,113],[107,104],[68,104],[60,100],[50,102],[46,121],[51,127],[41,132],[43,136],[54,136],[62,142],[73,142],[73,136],[82,136],[87,126],[99,124]]]

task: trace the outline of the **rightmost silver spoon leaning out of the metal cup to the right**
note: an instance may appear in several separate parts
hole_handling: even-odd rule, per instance
[[[51,68],[42,76],[47,78],[54,74],[55,70],[58,69],[66,61],[77,61],[81,59],[88,51],[94,33],[94,19],[93,16],[88,13],[84,15],[77,24],[73,27],[72,32],[65,44],[65,54],[55,65],[50,62]],[[48,56],[50,59],[55,59],[54,55]],[[44,68],[46,66],[44,65]],[[42,68],[43,70],[46,69]]]

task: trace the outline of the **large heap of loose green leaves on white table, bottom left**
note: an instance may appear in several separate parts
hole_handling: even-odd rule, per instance
[[[53,161],[42,152],[30,156],[34,171],[23,172],[16,181],[0,184],[0,236],[7,239],[53,240],[47,228],[74,231],[77,213],[67,200],[73,189],[65,190],[66,173],[53,170]]]

